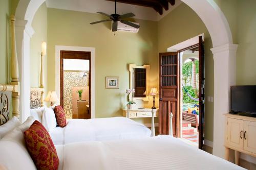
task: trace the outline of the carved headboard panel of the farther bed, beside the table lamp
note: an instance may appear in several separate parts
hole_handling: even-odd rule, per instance
[[[30,109],[44,106],[42,99],[43,94],[43,88],[30,88]]]

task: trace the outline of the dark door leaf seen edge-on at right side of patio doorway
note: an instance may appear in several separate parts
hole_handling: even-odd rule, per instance
[[[199,36],[199,149],[204,145],[204,42]]]

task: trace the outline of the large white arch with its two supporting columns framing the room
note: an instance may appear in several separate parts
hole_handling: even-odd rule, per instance
[[[46,0],[20,0],[16,9],[16,17],[20,21],[16,22],[16,46],[19,58],[20,73],[30,75],[29,70],[29,44],[33,34],[31,23],[35,12]],[[229,111],[229,89],[236,80],[234,71],[236,68],[237,45],[232,42],[232,35],[228,22],[214,0],[182,0],[193,9],[209,31],[214,54],[215,68],[215,106],[214,106],[214,155],[224,158],[224,113]],[[27,83],[27,84],[26,84]],[[28,84],[29,83],[29,84]],[[22,77],[20,98],[24,104],[21,108],[22,119],[24,113],[29,113],[29,85],[30,78]],[[218,100],[221,99],[221,100]]]

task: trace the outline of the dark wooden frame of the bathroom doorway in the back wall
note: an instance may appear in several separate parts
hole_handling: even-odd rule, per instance
[[[63,53],[68,52],[68,53],[75,53],[75,54],[84,54],[86,55],[85,57],[81,57],[81,56],[63,56]],[[90,117],[92,115],[91,112],[91,52],[83,52],[83,51],[68,51],[68,50],[61,50],[60,51],[60,106],[63,108],[63,90],[64,90],[64,86],[63,86],[63,60],[62,59],[77,59],[77,60],[89,60],[89,102],[90,102]]]

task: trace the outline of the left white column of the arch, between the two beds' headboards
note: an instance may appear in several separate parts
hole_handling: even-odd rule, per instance
[[[30,115],[30,38],[34,30],[27,26],[27,20],[16,19],[16,48],[20,80],[20,121]]]

